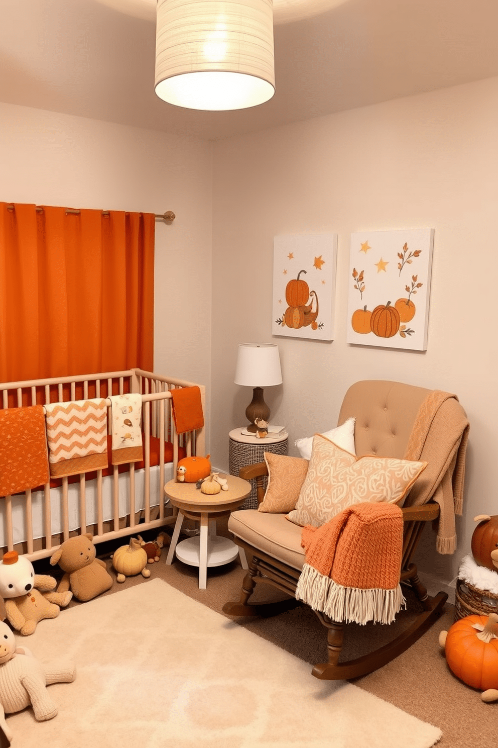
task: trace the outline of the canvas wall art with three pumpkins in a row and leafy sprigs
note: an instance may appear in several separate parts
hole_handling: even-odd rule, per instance
[[[427,349],[433,229],[351,235],[348,343]]]

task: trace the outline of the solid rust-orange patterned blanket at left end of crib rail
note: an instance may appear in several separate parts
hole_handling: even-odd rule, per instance
[[[41,405],[0,411],[0,496],[49,479],[45,414]]]

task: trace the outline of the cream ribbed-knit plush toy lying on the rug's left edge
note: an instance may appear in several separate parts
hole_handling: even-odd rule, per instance
[[[12,742],[13,732],[5,721],[5,714],[32,706],[37,720],[52,720],[57,706],[46,686],[71,683],[75,677],[76,669],[71,662],[45,666],[27,647],[16,647],[13,631],[0,622],[0,727],[8,741]]]

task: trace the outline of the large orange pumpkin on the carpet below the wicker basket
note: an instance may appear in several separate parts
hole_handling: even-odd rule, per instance
[[[482,701],[498,700],[497,613],[459,619],[449,631],[441,631],[439,644],[457,678],[482,690]]]

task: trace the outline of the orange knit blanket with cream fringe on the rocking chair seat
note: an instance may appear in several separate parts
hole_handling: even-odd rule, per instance
[[[337,622],[392,623],[405,606],[399,586],[402,511],[359,503],[321,527],[303,527],[305,563],[296,598]]]

